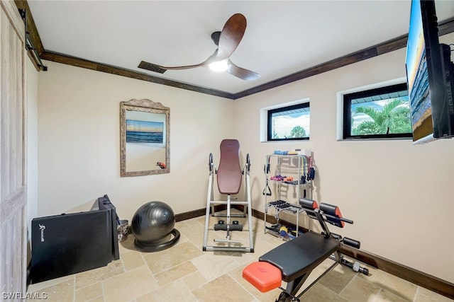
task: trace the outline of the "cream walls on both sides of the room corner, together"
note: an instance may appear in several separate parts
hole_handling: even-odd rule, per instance
[[[263,211],[263,164],[275,149],[314,151],[316,199],[338,204],[353,226],[336,230],[362,248],[454,282],[454,140],[337,141],[336,93],[405,76],[404,50],[225,100],[45,62],[39,74],[38,214],[89,208],[109,194],[121,218],[150,200],[176,213],[205,207],[208,154],[223,138],[250,153],[253,208]],[[170,107],[171,173],[119,176],[119,103],[150,98]],[[261,108],[311,100],[311,139],[261,143]]]

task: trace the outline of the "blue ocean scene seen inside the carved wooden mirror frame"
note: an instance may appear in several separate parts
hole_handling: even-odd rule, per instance
[[[126,120],[126,143],[162,144],[163,134],[163,122]]]

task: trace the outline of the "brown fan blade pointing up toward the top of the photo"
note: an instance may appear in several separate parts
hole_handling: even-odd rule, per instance
[[[236,13],[228,18],[219,35],[216,59],[221,61],[233,54],[236,47],[240,44],[241,39],[243,39],[243,35],[246,31],[246,24],[246,18],[241,13]]]

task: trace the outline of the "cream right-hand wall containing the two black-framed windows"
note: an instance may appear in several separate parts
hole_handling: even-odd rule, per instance
[[[363,250],[453,282],[454,139],[418,146],[411,140],[336,139],[338,91],[402,78],[404,59],[399,50],[238,100],[235,133],[253,161],[254,209],[264,211],[265,155],[311,149],[315,199],[337,204],[355,221],[333,232],[360,240]],[[303,98],[311,102],[310,140],[261,143],[260,109]]]

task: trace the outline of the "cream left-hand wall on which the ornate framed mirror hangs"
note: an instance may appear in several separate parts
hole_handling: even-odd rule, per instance
[[[45,62],[39,74],[39,204],[47,216],[89,209],[108,194],[131,221],[145,202],[175,213],[206,204],[209,153],[233,136],[233,103],[200,93]],[[120,102],[149,98],[170,108],[170,173],[120,177]]]

